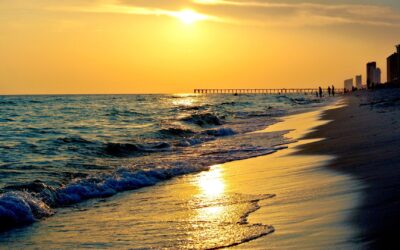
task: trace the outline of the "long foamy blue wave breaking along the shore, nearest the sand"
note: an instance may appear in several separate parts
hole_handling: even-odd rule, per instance
[[[123,145],[122,149],[126,149],[126,144],[111,145],[118,145],[119,150]],[[165,147],[167,146],[161,144],[154,145],[152,148],[163,149]],[[197,164],[187,161],[146,169],[120,167],[109,173],[83,175],[59,188],[53,188],[39,180],[24,185],[8,186],[4,188],[6,192],[0,194],[0,221],[2,222],[0,230],[34,223],[41,218],[53,215],[54,209],[58,207],[152,186],[177,176],[209,170],[210,166],[214,164],[266,155],[278,149],[254,147],[243,149],[240,152],[239,150],[223,150],[218,152],[219,155],[215,153],[215,157],[211,153],[203,154],[205,158]],[[253,152],[249,154],[250,151]],[[226,157],[221,158],[224,154]]]

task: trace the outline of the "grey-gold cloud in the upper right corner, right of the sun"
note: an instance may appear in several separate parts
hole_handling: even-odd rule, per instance
[[[361,4],[282,3],[274,1],[193,0],[197,5],[239,13],[242,20],[267,26],[324,26],[357,24],[400,26],[400,13],[388,6]]]

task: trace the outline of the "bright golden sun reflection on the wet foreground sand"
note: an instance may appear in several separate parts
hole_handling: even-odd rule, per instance
[[[197,191],[190,204],[193,211],[187,230],[187,248],[208,249],[240,244],[273,231],[261,224],[248,224],[247,215],[257,209],[254,195],[229,191],[224,167],[215,165],[197,175]]]

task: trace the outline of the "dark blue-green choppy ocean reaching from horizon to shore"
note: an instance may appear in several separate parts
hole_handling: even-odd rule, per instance
[[[252,132],[322,105],[300,94],[0,96],[0,230],[274,153],[288,131]],[[251,210],[259,199],[233,200]]]

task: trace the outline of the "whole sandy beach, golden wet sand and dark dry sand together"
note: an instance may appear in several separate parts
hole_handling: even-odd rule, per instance
[[[397,90],[358,92],[286,116],[251,135],[287,131],[288,148],[60,209],[1,244],[382,249],[398,221],[395,100]]]

